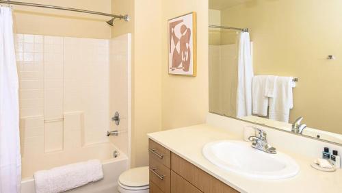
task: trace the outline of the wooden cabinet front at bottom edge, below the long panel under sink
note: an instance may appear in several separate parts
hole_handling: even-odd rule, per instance
[[[202,193],[194,185],[171,170],[171,193]]]

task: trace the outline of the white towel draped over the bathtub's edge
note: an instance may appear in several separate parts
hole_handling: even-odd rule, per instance
[[[103,179],[103,170],[98,159],[34,173],[36,193],[64,192],[100,179]]]

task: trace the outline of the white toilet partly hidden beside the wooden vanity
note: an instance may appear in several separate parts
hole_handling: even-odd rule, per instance
[[[124,171],[118,179],[120,193],[148,193],[148,166]]]

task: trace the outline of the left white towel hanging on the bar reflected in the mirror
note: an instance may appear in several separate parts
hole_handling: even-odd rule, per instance
[[[268,97],[265,97],[266,80],[268,76],[254,76],[252,82],[253,114],[267,116]]]

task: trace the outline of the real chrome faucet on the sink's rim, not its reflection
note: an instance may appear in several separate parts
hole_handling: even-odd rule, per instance
[[[265,151],[266,153],[276,154],[276,148],[267,143],[267,133],[261,129],[255,129],[256,136],[250,136],[248,140],[252,142],[252,148]]]

